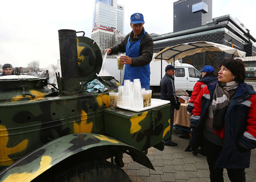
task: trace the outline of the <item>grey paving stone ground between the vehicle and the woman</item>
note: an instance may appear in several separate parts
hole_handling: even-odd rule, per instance
[[[189,139],[178,138],[173,128],[172,138],[178,146],[165,146],[163,151],[153,147],[148,150],[148,158],[155,170],[133,162],[129,155],[124,155],[123,170],[132,182],[210,182],[206,157],[192,152],[185,152]],[[246,170],[246,181],[256,182],[256,150],[252,150],[250,168]],[[224,181],[229,182],[224,169]]]

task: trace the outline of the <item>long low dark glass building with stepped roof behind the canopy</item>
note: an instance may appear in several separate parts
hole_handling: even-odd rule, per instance
[[[166,47],[175,46],[177,44],[209,41],[230,47],[233,46],[240,51],[246,52],[246,56],[256,56],[256,39],[250,34],[250,31],[244,24],[230,15],[213,18],[204,26],[163,35],[154,34],[152,39],[154,42],[154,53],[158,53]],[[209,56],[219,61],[223,59],[223,53],[220,51],[214,53],[207,51],[192,56],[186,56],[182,59],[182,62],[192,64],[198,70],[201,70],[205,65],[211,65]],[[232,57],[232,55],[227,53],[224,56],[225,58]]]

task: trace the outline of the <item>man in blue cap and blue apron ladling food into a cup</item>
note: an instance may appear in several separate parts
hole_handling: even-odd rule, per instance
[[[141,87],[149,90],[149,63],[153,56],[153,40],[143,27],[145,22],[142,14],[132,14],[130,20],[132,31],[117,46],[105,49],[105,53],[126,53],[126,56],[120,56],[121,64],[125,65],[123,80],[133,82],[134,79],[140,78]]]

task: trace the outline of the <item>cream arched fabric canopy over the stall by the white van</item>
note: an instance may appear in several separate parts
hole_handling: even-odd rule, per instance
[[[162,51],[158,52],[154,59],[155,61],[166,60],[167,63],[172,63],[175,60],[190,56],[195,53],[202,53],[205,51],[221,51],[228,54],[234,54],[238,57],[244,57],[246,53],[239,51],[238,49],[225,46],[223,44],[217,44],[207,41],[199,41],[193,43],[178,44],[173,47],[167,47]]]

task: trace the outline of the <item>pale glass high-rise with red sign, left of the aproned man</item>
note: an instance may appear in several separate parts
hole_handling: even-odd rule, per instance
[[[123,32],[124,7],[117,0],[95,0],[91,38],[100,50],[114,46]]]

